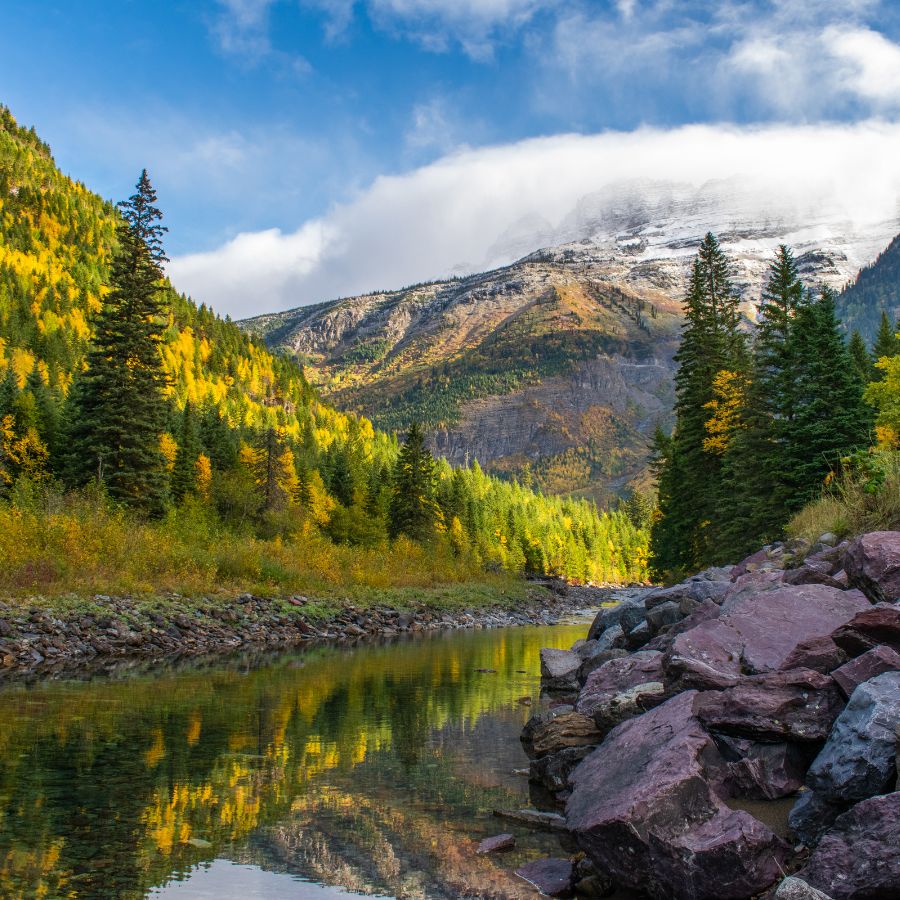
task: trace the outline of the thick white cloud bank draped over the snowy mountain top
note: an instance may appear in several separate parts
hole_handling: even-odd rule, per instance
[[[900,125],[878,121],[539,138],[380,177],[294,233],[240,235],[174,259],[170,273],[180,290],[238,317],[478,271],[511,261],[485,254],[516,223],[558,227],[586,194],[631,179],[736,177],[760,187],[762,209],[766,197],[789,197],[880,222],[897,214],[898,155]]]

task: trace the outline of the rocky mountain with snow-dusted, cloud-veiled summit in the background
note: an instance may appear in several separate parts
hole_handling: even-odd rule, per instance
[[[510,229],[488,256],[562,241],[511,265],[241,324],[300,359],[340,408],[387,429],[418,419],[454,462],[605,501],[646,481],[650,435],[671,424],[680,301],[707,231],[752,318],[780,243],[805,280],[840,288],[900,230],[764,196],[737,181],[622,183],[556,228],[528,217]]]

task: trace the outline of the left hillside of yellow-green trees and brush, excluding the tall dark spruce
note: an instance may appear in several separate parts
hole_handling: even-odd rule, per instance
[[[434,466],[427,453],[402,463],[394,436],[321,402],[296,360],[169,284],[154,323],[165,326],[167,430],[143,435],[161,454],[141,457],[164,483],[165,518],[78,493],[121,447],[97,463],[86,450],[87,474],[73,478],[67,435],[84,422],[73,384],[98,311],[114,308],[104,297],[118,216],[0,107],[0,590],[371,594],[474,584],[486,566],[645,576],[646,532],[624,512],[601,516],[477,466]],[[397,487],[401,463],[415,491]],[[35,504],[36,491],[52,502]]]

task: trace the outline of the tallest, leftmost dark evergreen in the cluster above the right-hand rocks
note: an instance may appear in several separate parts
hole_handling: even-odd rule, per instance
[[[721,460],[707,449],[708,407],[723,371],[746,367],[739,298],[728,260],[713,234],[700,246],[686,298],[686,322],[676,354],[675,432],[657,441],[659,516],[651,547],[658,574],[692,569],[715,558],[714,529]]]

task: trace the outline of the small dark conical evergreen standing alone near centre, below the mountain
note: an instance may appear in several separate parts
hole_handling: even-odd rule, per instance
[[[388,529],[392,538],[404,534],[425,541],[434,534],[436,521],[434,457],[425,446],[421,426],[413,422],[394,468]]]

